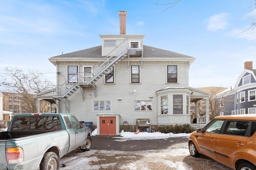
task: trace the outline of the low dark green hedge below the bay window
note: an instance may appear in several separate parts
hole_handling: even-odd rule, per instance
[[[191,127],[190,124],[184,124],[184,125],[163,125],[163,126],[159,126],[157,128],[157,131],[161,132],[161,133],[192,133],[193,131],[195,131],[196,128]]]

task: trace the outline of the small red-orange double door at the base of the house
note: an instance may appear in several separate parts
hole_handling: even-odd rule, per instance
[[[116,117],[100,117],[100,135],[116,135]]]

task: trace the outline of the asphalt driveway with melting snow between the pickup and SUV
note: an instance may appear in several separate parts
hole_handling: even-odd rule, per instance
[[[231,170],[218,162],[190,156],[188,137],[122,139],[92,136],[88,152],[76,149],[60,159],[60,170]]]

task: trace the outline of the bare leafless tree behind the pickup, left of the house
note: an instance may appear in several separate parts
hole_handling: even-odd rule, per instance
[[[52,87],[52,82],[47,80],[38,70],[29,70],[25,74],[18,67],[8,66],[4,68],[5,73],[2,76],[2,86],[7,92],[18,93],[22,112],[36,112],[36,98],[34,94],[43,92]]]

